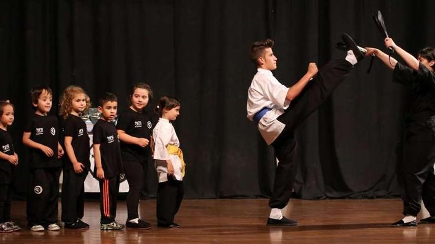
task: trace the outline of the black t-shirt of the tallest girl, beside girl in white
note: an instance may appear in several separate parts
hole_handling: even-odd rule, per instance
[[[125,131],[129,136],[150,139],[153,124],[147,111],[136,112],[129,108],[120,114],[116,129]],[[123,160],[146,162],[150,153],[149,146],[141,147],[136,144],[121,141]]]

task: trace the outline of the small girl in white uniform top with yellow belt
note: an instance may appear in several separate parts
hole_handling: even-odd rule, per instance
[[[157,224],[159,227],[177,228],[174,223],[184,196],[184,162],[180,142],[171,121],[179,115],[180,102],[163,96],[155,111],[160,116],[153,130],[154,156],[159,185],[157,189]]]

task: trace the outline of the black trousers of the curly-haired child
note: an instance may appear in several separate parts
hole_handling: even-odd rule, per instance
[[[62,221],[73,223],[83,218],[85,207],[85,179],[88,171],[76,174],[74,170],[63,172]]]

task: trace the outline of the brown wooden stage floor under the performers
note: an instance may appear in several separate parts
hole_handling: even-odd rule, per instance
[[[156,226],[155,200],[142,200],[140,215],[150,230],[100,231],[99,203],[86,202],[88,230],[18,232],[0,234],[0,243],[435,243],[435,224],[393,228],[401,217],[400,199],[322,200],[292,199],[285,215],[297,227],[265,225],[267,199],[184,200],[175,222],[179,229]],[[12,217],[25,226],[25,202],[13,202]],[[60,209],[60,204],[59,204]],[[125,223],[125,201],[118,202],[117,221]],[[419,216],[420,217],[420,216]]]

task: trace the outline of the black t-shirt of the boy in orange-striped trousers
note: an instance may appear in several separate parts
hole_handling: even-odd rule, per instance
[[[100,144],[101,164],[105,178],[118,176],[123,172],[118,133],[113,123],[99,119],[92,130],[93,143]],[[96,166],[94,177],[96,177]]]

